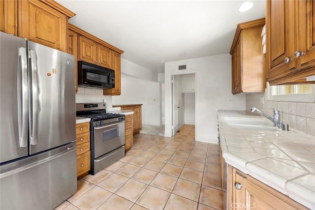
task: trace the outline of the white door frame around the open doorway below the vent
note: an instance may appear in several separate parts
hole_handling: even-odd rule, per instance
[[[173,131],[172,131],[172,124],[173,124],[173,102],[172,102],[172,98],[173,98],[173,92],[172,92],[172,76],[174,75],[183,75],[183,74],[195,74],[195,104],[197,104],[197,98],[198,98],[198,88],[197,88],[197,71],[185,71],[185,72],[176,72],[176,73],[170,73],[169,74],[169,106],[168,106],[168,111],[169,111],[169,116],[170,118],[168,119],[169,120],[169,126],[170,126],[170,135],[173,136]],[[166,109],[166,107],[165,107]],[[196,107],[195,107],[195,116],[197,114],[197,110],[196,110]],[[166,119],[165,119],[166,121]],[[197,137],[197,120],[195,118],[195,138]]]

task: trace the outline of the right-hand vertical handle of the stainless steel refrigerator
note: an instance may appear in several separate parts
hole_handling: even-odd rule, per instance
[[[37,144],[37,125],[38,125],[38,79],[37,79],[37,60],[36,52],[29,52],[31,60],[31,71],[29,75],[29,87],[31,87],[30,95],[30,142],[31,145]]]

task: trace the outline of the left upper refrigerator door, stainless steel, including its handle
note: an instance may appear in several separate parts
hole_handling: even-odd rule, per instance
[[[0,32],[0,163],[28,155],[26,40]]]

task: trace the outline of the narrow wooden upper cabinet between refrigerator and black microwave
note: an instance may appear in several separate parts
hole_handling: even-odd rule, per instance
[[[74,56],[75,93],[78,91],[78,34],[68,30],[68,53]]]

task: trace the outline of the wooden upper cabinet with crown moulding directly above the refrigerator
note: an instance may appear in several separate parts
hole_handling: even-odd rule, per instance
[[[67,52],[68,18],[75,14],[51,0],[18,3],[19,36]]]

